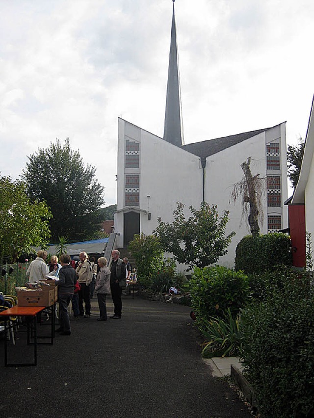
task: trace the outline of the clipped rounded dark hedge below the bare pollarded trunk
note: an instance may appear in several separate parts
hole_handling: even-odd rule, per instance
[[[245,274],[292,265],[291,240],[282,233],[244,236],[235,250],[235,270]]]

